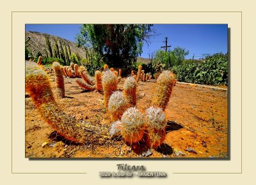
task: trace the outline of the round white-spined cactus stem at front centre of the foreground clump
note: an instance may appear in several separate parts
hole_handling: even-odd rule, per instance
[[[133,144],[139,142],[145,131],[145,117],[135,108],[128,108],[121,117],[121,135],[126,142]]]

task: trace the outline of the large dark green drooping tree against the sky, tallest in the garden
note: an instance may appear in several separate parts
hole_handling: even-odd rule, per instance
[[[115,67],[131,67],[142,52],[143,41],[153,33],[150,24],[84,24],[76,36],[79,46],[93,48]]]

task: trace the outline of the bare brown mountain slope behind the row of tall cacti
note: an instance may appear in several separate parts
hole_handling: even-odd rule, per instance
[[[85,58],[84,48],[77,47],[77,44],[72,41],[65,40],[64,38],[61,38],[59,36],[53,36],[51,34],[40,33],[36,31],[26,31],[25,33],[26,40],[30,38],[28,42],[29,43],[28,49],[32,52],[33,56],[36,56],[38,52],[41,52],[43,56],[46,56],[45,54],[45,50],[47,50],[47,45],[45,41],[46,36],[49,37],[52,48],[54,47],[54,39],[55,39],[58,41],[58,43],[60,41],[62,45],[66,45],[66,46],[69,45],[72,53],[78,53],[81,58]],[[48,52],[48,56],[49,56],[49,52]]]

